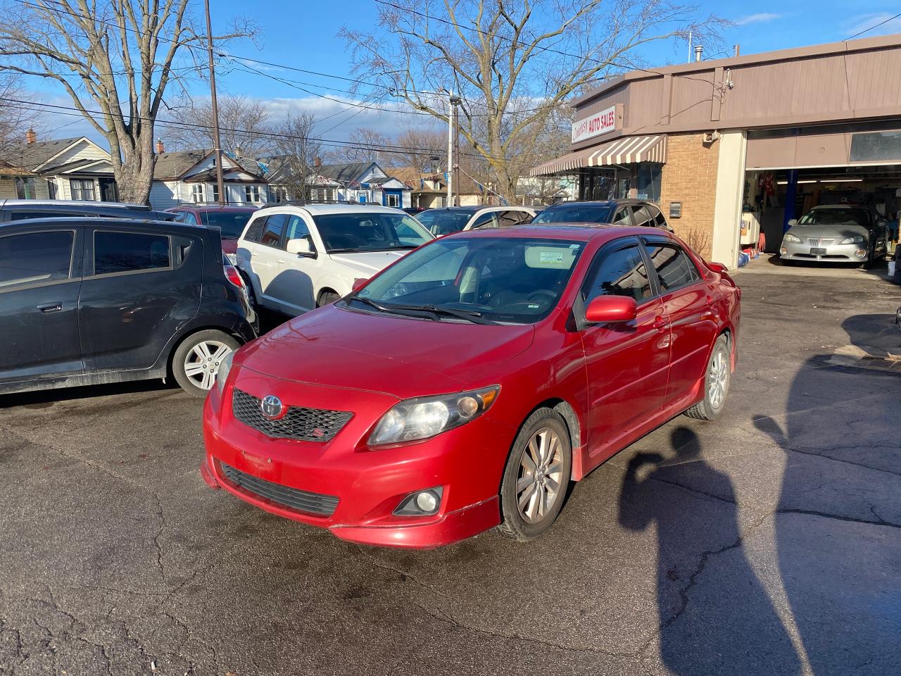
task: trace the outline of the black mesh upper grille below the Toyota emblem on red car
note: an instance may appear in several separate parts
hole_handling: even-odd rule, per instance
[[[289,407],[285,416],[269,420],[259,409],[259,399],[238,388],[232,391],[232,412],[244,425],[273,439],[297,439],[304,442],[330,441],[353,417],[348,411]]]

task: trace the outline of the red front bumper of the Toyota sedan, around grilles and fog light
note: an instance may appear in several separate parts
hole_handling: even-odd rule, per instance
[[[319,408],[353,411],[354,417],[325,443],[272,439],[232,416],[232,381],[256,397],[275,394],[292,406],[313,407],[315,402]],[[423,549],[459,542],[498,525],[497,492],[515,431],[481,416],[430,440],[370,449],[365,440],[372,426],[396,401],[384,394],[232,371],[224,397],[214,388],[205,402],[201,473],[213,488],[226,489],[272,514],[328,528],[354,543]],[[270,482],[265,486],[271,489],[238,485],[226,475],[223,463]],[[406,496],[439,486],[443,494],[436,514],[393,514]],[[291,507],[280,498],[282,489],[336,498],[337,506],[331,514]]]

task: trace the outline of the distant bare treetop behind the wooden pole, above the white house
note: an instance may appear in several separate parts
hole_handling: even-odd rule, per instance
[[[262,101],[247,96],[218,96],[219,138],[223,151],[256,158],[274,151],[271,114]],[[213,148],[213,106],[208,98],[185,97],[170,105],[159,136],[171,150]]]

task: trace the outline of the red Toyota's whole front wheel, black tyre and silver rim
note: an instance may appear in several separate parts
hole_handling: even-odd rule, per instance
[[[550,528],[566,499],[571,467],[566,422],[550,408],[539,408],[523,424],[507,460],[501,533],[526,542]]]

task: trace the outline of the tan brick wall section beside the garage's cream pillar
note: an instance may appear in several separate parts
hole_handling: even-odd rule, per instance
[[[670,134],[660,176],[660,208],[679,237],[709,260],[714,238],[719,143],[703,133]],[[682,217],[669,218],[669,203],[682,203]]]

